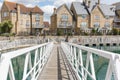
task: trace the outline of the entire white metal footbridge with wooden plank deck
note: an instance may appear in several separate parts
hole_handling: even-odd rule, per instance
[[[0,55],[0,80],[120,80],[120,55],[44,43]]]

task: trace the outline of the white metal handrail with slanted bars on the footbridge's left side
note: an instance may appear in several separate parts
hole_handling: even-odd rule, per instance
[[[22,55],[25,55],[25,62],[24,62],[24,69],[23,69],[23,75],[22,75],[22,80],[26,80],[29,75],[31,76],[31,80],[37,80],[40,72],[42,71],[44,65],[46,64],[49,55],[52,51],[53,48],[53,42],[49,43],[44,43],[38,46],[33,46],[17,51],[12,51],[8,53],[1,54],[0,57],[0,80],[7,80],[8,74],[10,76],[10,80],[16,80],[15,79],[15,74],[13,70],[13,64],[12,64],[12,59],[20,57]],[[34,51],[34,63],[33,67],[30,68],[30,71],[27,72],[28,70],[28,64],[31,64],[31,51]]]

